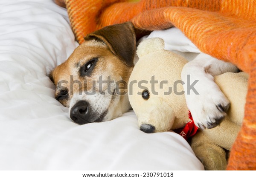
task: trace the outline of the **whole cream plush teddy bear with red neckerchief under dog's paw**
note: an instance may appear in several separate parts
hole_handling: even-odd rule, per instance
[[[188,61],[165,50],[161,38],[143,40],[137,55],[139,61],[129,78],[128,96],[140,130],[146,133],[177,130],[186,139],[187,133],[182,129],[192,122],[192,117],[188,115],[180,76]],[[248,75],[244,72],[227,72],[215,77],[215,83],[230,100],[230,109],[217,127],[192,129],[195,135],[190,145],[205,170],[226,169],[227,151],[231,149],[244,117],[247,81]]]

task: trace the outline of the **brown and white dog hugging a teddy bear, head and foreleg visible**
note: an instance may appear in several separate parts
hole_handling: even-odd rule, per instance
[[[142,35],[131,22],[104,27],[87,35],[67,61],[51,72],[55,98],[69,107],[74,122],[109,121],[131,109],[127,83],[134,67],[136,42]],[[197,55],[184,66],[181,77],[185,84],[187,75],[191,81],[198,80],[200,95],[188,95],[185,86],[184,91],[195,124],[201,129],[220,124],[229,108],[230,102],[213,80],[224,72],[237,72],[237,68],[206,54]]]

